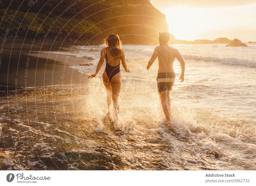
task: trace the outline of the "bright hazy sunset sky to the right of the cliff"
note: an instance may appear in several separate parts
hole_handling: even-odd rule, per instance
[[[256,41],[256,0],[150,0],[176,39]]]

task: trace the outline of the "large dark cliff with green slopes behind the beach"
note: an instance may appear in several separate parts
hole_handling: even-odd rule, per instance
[[[98,45],[118,33],[124,44],[156,44],[158,31],[168,31],[149,0],[3,0],[0,16],[8,41]]]

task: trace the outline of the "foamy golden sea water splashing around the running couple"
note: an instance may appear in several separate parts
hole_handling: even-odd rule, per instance
[[[164,124],[156,89],[157,60],[147,71],[154,46],[124,45],[114,127],[107,116],[102,66],[81,84],[31,87],[1,97],[1,169],[40,170],[255,170],[256,45],[173,45],[182,54],[171,91],[172,124]],[[52,52],[83,58],[72,66],[81,76],[95,72],[100,46]]]

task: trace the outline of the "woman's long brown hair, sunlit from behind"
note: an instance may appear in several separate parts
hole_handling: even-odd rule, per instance
[[[107,50],[113,57],[121,55],[122,41],[120,40],[118,34],[111,33],[104,39],[107,46]]]

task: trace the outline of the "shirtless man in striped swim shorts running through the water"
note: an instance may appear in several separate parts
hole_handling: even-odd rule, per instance
[[[184,72],[185,72],[185,61],[180,55],[180,52],[168,45],[170,39],[170,34],[167,32],[159,33],[159,43],[160,46],[156,47],[151,59],[148,61],[147,70],[158,57],[158,74],[157,74],[157,89],[160,95],[160,100],[162,108],[164,111],[165,118],[168,123],[168,127],[171,126],[171,99],[169,97],[170,91],[175,80],[175,73],[173,69],[174,59],[177,58],[180,62],[181,75],[180,82],[184,81]]]

